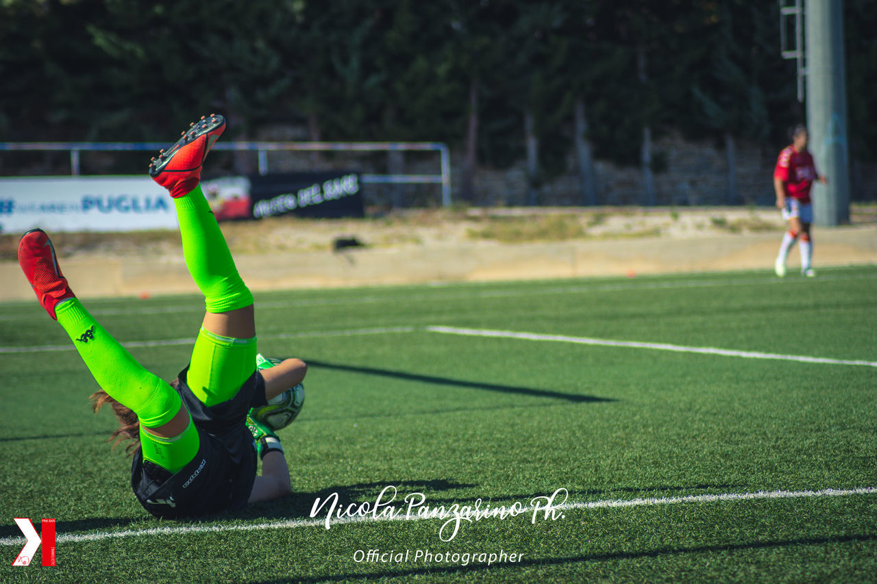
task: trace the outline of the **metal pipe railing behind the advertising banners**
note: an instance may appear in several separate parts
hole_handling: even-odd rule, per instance
[[[70,153],[70,174],[80,175],[82,152],[158,152],[168,145],[160,142],[0,142],[0,152],[65,152]],[[288,152],[438,152],[440,174],[362,174],[363,183],[372,184],[439,184],[442,205],[451,204],[451,156],[441,142],[222,142],[214,150],[255,152],[259,174],[268,173],[267,153]]]

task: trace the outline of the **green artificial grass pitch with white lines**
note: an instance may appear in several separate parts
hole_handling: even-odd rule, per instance
[[[304,410],[280,433],[296,494],[160,522],[105,442],[111,414],[90,413],[95,383],[61,327],[36,302],[0,304],[0,580],[877,580],[877,268],[256,305],[260,351],[310,364]],[[86,306],[168,380],[203,310],[195,296]],[[397,493],[381,509],[400,516],[349,518],[384,488]],[[531,509],[559,489],[547,516]],[[311,508],[334,493],[346,519],[326,530],[327,508]],[[403,520],[416,493],[433,510],[480,499],[516,516],[463,520],[446,541],[453,521]],[[11,566],[14,517],[56,519],[57,566]]]

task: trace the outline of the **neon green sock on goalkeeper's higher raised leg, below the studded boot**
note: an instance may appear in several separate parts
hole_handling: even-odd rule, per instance
[[[182,256],[192,280],[204,295],[207,311],[228,312],[252,304],[253,295],[240,279],[201,185],[175,198],[174,204],[180,223]]]

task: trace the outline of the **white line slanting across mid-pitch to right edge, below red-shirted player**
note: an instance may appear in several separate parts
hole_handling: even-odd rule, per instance
[[[802,355],[783,355],[780,353],[759,353],[757,351],[737,351],[719,349],[711,346],[670,345],[667,343],[643,343],[639,341],[617,341],[605,338],[567,337],[564,335],[541,335],[532,332],[491,331],[488,329],[465,329],[453,326],[427,326],[426,331],[444,334],[462,335],[465,337],[518,338],[531,341],[548,341],[555,343],[574,343],[576,345],[621,346],[634,349],[653,349],[657,351],[674,351],[676,353],[702,353],[721,355],[723,357],[741,357],[744,359],[774,359],[798,361],[801,363],[825,363],[829,365],[860,365],[877,367],[877,361],[829,359],[827,357],[806,357]]]

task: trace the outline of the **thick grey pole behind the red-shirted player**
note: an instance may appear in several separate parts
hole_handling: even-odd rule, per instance
[[[828,184],[813,185],[818,225],[850,221],[843,0],[806,0],[804,18],[809,149]]]

